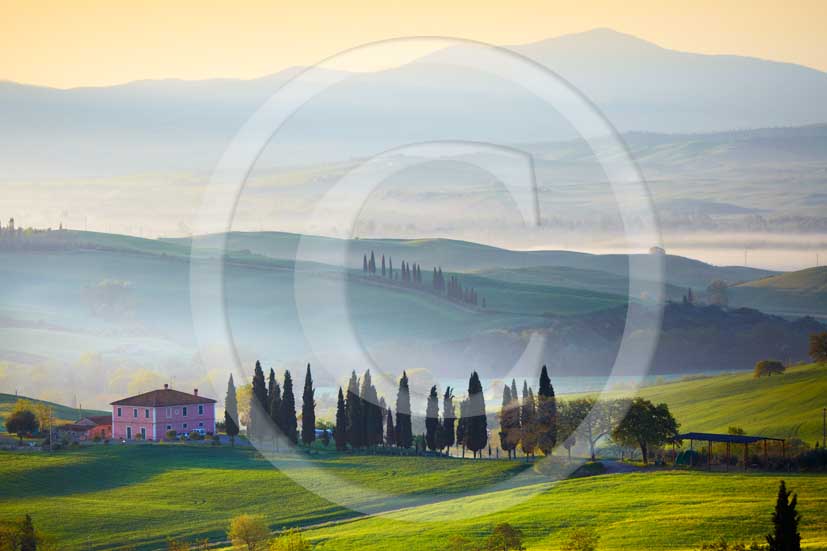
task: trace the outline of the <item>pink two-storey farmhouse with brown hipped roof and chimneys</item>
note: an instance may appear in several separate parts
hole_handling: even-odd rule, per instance
[[[203,429],[215,433],[215,400],[172,390],[153,390],[112,402],[112,437],[124,440],[162,440],[167,431],[178,434]]]

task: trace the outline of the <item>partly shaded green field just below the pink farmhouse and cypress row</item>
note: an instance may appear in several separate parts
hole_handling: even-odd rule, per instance
[[[381,456],[332,455],[317,461],[310,466],[353,484],[435,496],[484,487],[524,468],[521,463]],[[208,445],[0,453],[0,520],[26,513],[65,550],[126,544],[157,549],[168,536],[218,540],[241,513],[264,515],[273,529],[356,515],[305,490],[251,451]]]

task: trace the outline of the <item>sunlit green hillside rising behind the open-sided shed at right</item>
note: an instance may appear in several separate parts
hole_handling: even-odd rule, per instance
[[[813,445],[821,439],[827,366],[791,367],[760,379],[752,373],[720,375],[651,386],[639,394],[667,403],[684,432],[726,432],[734,425],[747,434],[801,438]]]

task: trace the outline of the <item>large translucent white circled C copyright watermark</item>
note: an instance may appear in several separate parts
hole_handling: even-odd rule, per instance
[[[659,244],[659,231],[651,199],[643,178],[622,140],[596,107],[554,72],[510,50],[468,40],[416,37],[370,43],[332,56],[319,65],[304,70],[282,86],[240,129],[225,150],[210,179],[204,193],[195,233],[211,233],[215,229],[216,222],[220,224],[224,232],[214,236],[213,244],[217,245],[219,254],[209,258],[196,253],[197,244],[193,241],[191,304],[196,338],[202,350],[209,349],[212,367],[226,369],[227,366],[232,366],[237,380],[249,380],[248,372],[239,361],[226,314],[224,254],[227,232],[233,225],[239,196],[259,156],[285,122],[302,106],[351,76],[350,73],[328,71],[324,67],[330,65],[346,67],[351,60],[362,59],[366,55],[376,58],[387,57],[398,52],[400,47],[419,47],[424,46],[425,43],[445,47],[433,62],[449,66],[470,67],[517,84],[560,113],[588,144],[602,167],[607,182],[611,186],[624,227],[635,228],[633,233],[626,232],[629,245],[633,248],[648,250],[649,247]],[[461,46],[461,48],[451,48],[451,46]],[[362,161],[335,182],[315,204],[308,227],[314,227],[314,224],[321,225],[321,222],[329,217],[332,211],[338,212],[341,217],[344,208],[345,225],[350,228],[353,236],[353,228],[363,206],[371,193],[384,181],[402,170],[421,163],[457,157],[462,157],[464,162],[473,164],[502,182],[514,199],[526,225],[540,223],[536,174],[530,155],[506,144],[457,141],[445,139],[444,136],[435,136],[432,141],[428,142],[395,145]],[[503,171],[503,166],[509,168]],[[365,369],[373,368],[386,377],[398,377],[400,374],[385,373],[375,364],[352,324],[347,289],[349,281],[354,276],[354,270],[348,267],[352,263],[348,258],[347,241],[335,242],[338,245],[330,260],[332,267],[326,269],[324,284],[321,285],[318,277],[307,271],[299,270],[299,266],[307,265],[318,256],[313,250],[315,243],[304,237],[299,239],[294,277],[296,309],[302,325],[302,334],[310,347],[311,354],[331,347],[347,348],[357,351],[357,363],[363,365]],[[328,257],[331,258],[329,251]],[[628,266],[629,307],[626,323],[612,372],[601,393],[601,400],[605,391],[613,386],[615,376],[619,373],[623,373],[625,384],[632,390],[642,382],[643,377],[648,373],[660,327],[664,269],[662,256],[629,255]],[[644,293],[651,296],[653,289],[657,290],[657,296],[651,298],[657,306],[646,309],[635,307],[636,298]],[[320,304],[325,309],[322,323],[318,321],[318,318],[308,315],[318,309]],[[515,366],[526,362],[539,362],[543,347],[542,340],[541,331],[532,334],[523,357],[515,363]],[[321,367],[325,368],[324,365]],[[514,366],[509,370],[506,380],[513,373]],[[255,410],[259,405],[253,402],[252,406]],[[485,414],[486,412],[482,411],[466,412],[468,416]],[[259,419],[268,419],[263,411],[253,411],[251,415]],[[598,413],[593,410],[583,421],[581,428],[592,423],[596,415]],[[253,439],[260,453],[308,490],[328,501],[361,513],[394,514],[397,518],[417,521],[429,520],[428,509],[419,509],[416,513],[412,513],[412,507],[446,500],[456,500],[453,501],[456,506],[451,507],[451,502],[448,501],[446,506],[436,509],[435,511],[438,512],[435,514],[438,514],[438,518],[442,520],[490,514],[496,510],[516,505],[546,490],[548,477],[543,473],[553,473],[554,479],[560,479],[579,467],[578,462],[566,464],[557,462],[551,468],[552,462],[549,457],[540,461],[540,463],[545,462],[549,468],[544,469],[542,466],[537,468],[535,464],[533,469],[523,470],[515,476],[485,488],[474,488],[466,492],[452,493],[449,496],[422,493],[397,494],[351,482],[346,477],[339,476],[335,471],[326,468],[323,461],[314,459],[292,446],[282,444],[277,450],[274,443],[286,442],[286,439],[272,423],[267,425],[264,432]],[[563,442],[558,442],[555,452],[559,452],[563,446]],[[460,498],[483,491],[500,493],[498,499],[483,500],[478,502],[477,507],[461,506]]]

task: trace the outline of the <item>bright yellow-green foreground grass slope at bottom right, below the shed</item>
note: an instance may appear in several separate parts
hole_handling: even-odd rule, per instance
[[[526,536],[528,551],[557,550],[574,527],[593,528],[601,551],[694,550],[721,537],[761,540],[770,526],[777,474],[654,472],[561,482],[504,511],[474,518],[507,494],[419,507],[388,517],[311,530],[319,551],[443,550],[451,535],[477,544],[508,522]],[[827,477],[784,475],[799,494],[801,533],[807,549],[827,549]],[[519,490],[516,490],[519,491]],[[445,522],[450,511],[468,520]],[[411,521],[414,522],[411,522]]]

